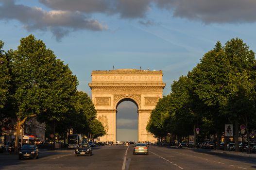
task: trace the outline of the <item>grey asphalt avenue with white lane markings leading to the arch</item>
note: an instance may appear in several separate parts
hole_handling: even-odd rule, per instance
[[[0,170],[256,170],[256,158],[150,146],[149,155],[133,155],[132,146],[94,147],[92,156],[74,150],[40,151],[39,159],[18,160],[0,153]]]

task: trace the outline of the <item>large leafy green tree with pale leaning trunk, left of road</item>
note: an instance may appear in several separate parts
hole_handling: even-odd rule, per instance
[[[42,114],[59,118],[70,109],[70,98],[76,93],[77,78],[67,65],[56,59],[33,35],[20,40],[17,50],[10,52],[12,62],[12,103],[16,110],[17,135],[27,119]]]

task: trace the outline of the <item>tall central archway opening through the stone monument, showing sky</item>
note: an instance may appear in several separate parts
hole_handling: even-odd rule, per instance
[[[123,99],[117,105],[117,141],[138,140],[138,106],[130,99]]]

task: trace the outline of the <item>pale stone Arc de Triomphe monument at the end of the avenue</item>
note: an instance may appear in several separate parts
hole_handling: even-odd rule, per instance
[[[156,141],[146,131],[150,114],[163,97],[163,72],[137,69],[95,70],[89,83],[97,119],[107,135],[101,141],[116,141],[116,114],[119,103],[131,101],[138,108],[138,141]]]

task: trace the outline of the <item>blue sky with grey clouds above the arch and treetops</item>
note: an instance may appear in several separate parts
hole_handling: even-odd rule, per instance
[[[238,37],[256,51],[255,9],[256,0],[0,0],[0,40],[15,50],[34,34],[89,95],[91,71],[113,66],[163,70],[167,95],[217,41]]]

